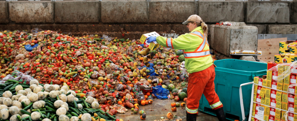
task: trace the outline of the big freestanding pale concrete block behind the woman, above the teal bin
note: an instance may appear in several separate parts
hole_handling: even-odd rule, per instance
[[[243,22],[234,22],[232,26],[210,26],[210,47],[227,56],[233,50],[257,50],[257,38],[258,28]]]

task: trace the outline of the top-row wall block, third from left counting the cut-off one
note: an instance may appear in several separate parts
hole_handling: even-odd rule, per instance
[[[56,1],[56,23],[86,23],[100,21],[100,1]]]

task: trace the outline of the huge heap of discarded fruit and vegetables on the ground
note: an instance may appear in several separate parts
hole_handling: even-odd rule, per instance
[[[2,120],[121,120],[154,98],[186,101],[183,51],[56,31],[0,32]],[[185,103],[174,104],[176,107]]]

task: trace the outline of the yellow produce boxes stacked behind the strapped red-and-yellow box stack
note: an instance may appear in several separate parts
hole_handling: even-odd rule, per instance
[[[281,41],[279,42],[279,54],[274,55],[274,62],[291,63],[297,60],[296,41]]]

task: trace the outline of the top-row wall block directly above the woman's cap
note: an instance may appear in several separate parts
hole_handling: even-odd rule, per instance
[[[190,15],[197,14],[196,5],[194,0],[152,0],[149,2],[149,22],[182,23]]]

